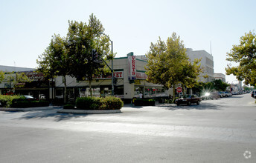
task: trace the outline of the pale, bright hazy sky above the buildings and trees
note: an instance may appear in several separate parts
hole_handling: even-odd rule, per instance
[[[88,23],[93,13],[116,57],[144,55],[151,42],[175,32],[185,47],[211,53],[214,73],[225,74],[226,53],[256,28],[255,6],[255,0],[0,0],[0,65],[36,68],[54,33],[66,36],[68,20]]]

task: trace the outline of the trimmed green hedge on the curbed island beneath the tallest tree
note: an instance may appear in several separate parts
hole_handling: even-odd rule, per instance
[[[119,110],[124,106],[124,102],[113,96],[106,98],[81,97],[77,98],[76,106],[80,110]]]

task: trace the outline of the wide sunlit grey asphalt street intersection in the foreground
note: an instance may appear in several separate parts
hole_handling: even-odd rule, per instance
[[[0,112],[0,162],[256,162],[250,94],[122,113]]]

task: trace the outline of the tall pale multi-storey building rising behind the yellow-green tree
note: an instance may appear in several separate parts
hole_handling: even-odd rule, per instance
[[[201,59],[200,63],[204,73],[199,76],[199,82],[211,82],[214,80],[214,57],[211,54],[205,50],[187,48],[187,55],[191,61]],[[208,76],[208,78],[204,78],[204,76]]]

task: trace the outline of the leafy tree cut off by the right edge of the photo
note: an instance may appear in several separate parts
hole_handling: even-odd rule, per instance
[[[249,31],[240,37],[240,44],[233,45],[227,53],[227,61],[234,61],[238,66],[228,64],[226,74],[233,74],[238,80],[245,80],[245,84],[256,84],[256,35]]]

